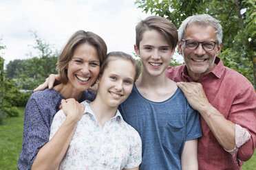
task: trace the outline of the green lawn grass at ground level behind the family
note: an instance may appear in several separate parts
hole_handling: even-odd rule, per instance
[[[24,108],[19,108],[19,117],[8,117],[0,125],[0,170],[17,169],[21,154]],[[244,162],[242,170],[256,169],[256,152],[250,160]]]

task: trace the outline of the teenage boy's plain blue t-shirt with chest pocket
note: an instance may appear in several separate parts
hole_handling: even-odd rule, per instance
[[[119,110],[140,134],[140,169],[181,169],[185,141],[202,136],[199,113],[189,106],[180,88],[166,101],[153,102],[142,97],[134,85]]]

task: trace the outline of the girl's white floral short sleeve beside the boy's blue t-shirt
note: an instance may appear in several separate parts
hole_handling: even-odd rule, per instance
[[[134,135],[131,136],[131,154],[125,169],[138,167],[142,162],[142,142],[140,135],[134,130]]]

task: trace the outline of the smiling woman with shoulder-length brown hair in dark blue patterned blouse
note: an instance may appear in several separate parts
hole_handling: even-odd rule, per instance
[[[87,89],[96,82],[100,64],[106,56],[104,40],[92,32],[78,31],[68,40],[57,63],[61,84],[52,90],[33,93],[25,107],[23,146],[18,169],[52,169],[58,165],[80,116],[67,114],[67,119],[49,141],[54,114],[59,110],[61,99],[94,99],[94,93]]]

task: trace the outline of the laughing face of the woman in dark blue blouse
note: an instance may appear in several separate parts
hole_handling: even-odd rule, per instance
[[[88,43],[78,45],[67,66],[68,85],[72,90],[87,90],[98,77],[100,60],[96,48]]]

